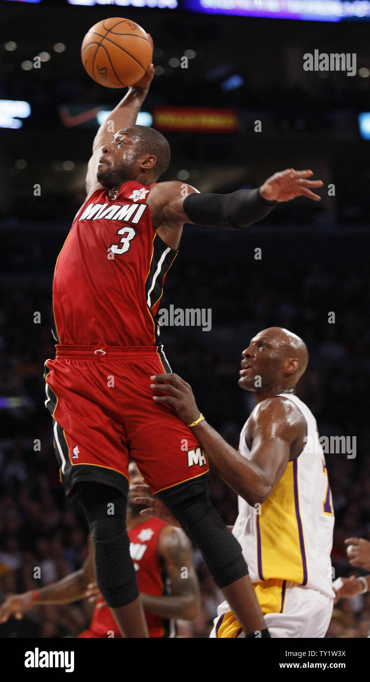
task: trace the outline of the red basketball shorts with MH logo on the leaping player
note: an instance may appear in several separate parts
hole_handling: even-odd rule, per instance
[[[77,481],[125,492],[130,458],[152,492],[208,471],[190,428],[152,400],[150,376],[170,371],[157,346],[56,348],[57,357],[45,363],[45,405],[66,494]]]

